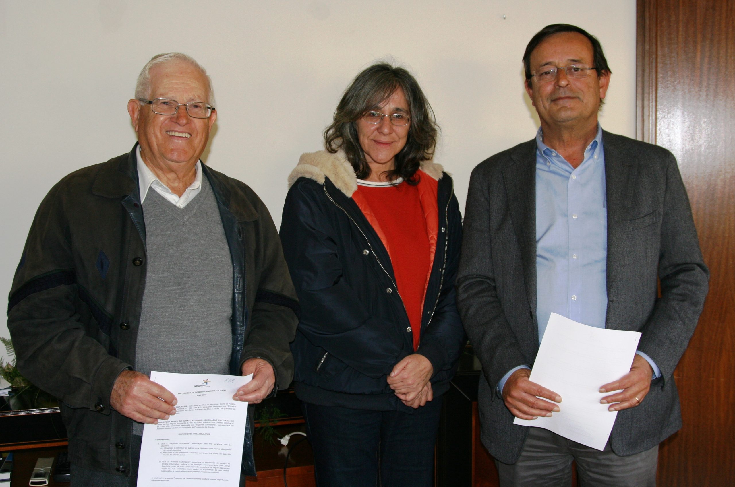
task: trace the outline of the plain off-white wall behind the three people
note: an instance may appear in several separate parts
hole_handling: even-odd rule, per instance
[[[207,163],[250,184],[276,226],[298,156],[321,148],[321,131],[356,73],[390,56],[434,107],[442,126],[436,159],[453,173],[464,207],[472,168],[534,136],[520,58],[547,24],[576,24],[600,39],[614,73],[601,123],[634,135],[635,4],[0,0],[3,303],[46,192],[135,143],[126,103],[154,54],[183,51],[207,68],[218,102]],[[0,336],[8,336],[5,323]]]

